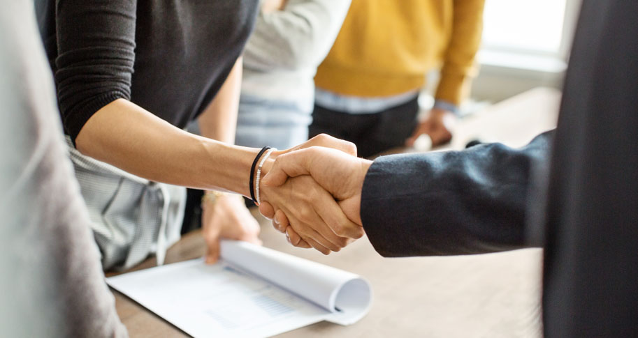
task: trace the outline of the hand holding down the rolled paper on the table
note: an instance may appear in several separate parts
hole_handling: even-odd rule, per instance
[[[252,217],[240,195],[221,194],[215,202],[204,199],[202,204],[202,235],[206,241],[206,263],[219,260],[219,240],[245,240],[261,245],[259,223]]]

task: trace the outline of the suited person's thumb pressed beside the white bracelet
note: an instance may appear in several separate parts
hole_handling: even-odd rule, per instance
[[[289,177],[309,175],[310,158],[312,158],[312,147],[280,155],[268,174],[261,179],[261,183],[268,187],[278,187]]]

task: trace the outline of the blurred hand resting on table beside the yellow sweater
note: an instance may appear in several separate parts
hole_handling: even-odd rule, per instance
[[[423,134],[430,136],[433,146],[445,144],[452,139],[455,124],[456,116],[454,116],[454,113],[444,109],[433,108],[426,119],[416,126],[416,130],[405,141],[405,145],[414,146],[414,141]]]

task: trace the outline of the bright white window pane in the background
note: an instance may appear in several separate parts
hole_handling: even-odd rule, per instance
[[[566,0],[487,0],[483,45],[486,49],[558,54]]]

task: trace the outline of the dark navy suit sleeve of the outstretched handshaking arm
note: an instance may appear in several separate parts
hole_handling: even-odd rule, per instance
[[[546,162],[552,136],[546,132],[518,149],[482,144],[377,158],[361,197],[370,243],[383,256],[523,247],[532,168]]]

